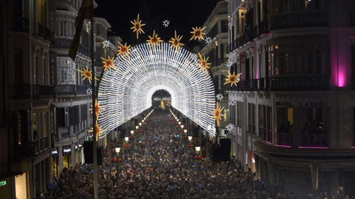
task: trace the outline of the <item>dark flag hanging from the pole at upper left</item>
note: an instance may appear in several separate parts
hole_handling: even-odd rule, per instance
[[[78,16],[75,19],[75,35],[70,43],[68,56],[74,61],[78,51],[81,30],[83,28],[84,19],[91,19],[93,17],[94,7],[93,0],[83,0]],[[93,25],[92,25],[93,27]]]

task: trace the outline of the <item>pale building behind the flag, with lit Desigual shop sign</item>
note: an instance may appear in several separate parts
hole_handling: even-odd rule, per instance
[[[55,66],[55,97],[51,103],[51,126],[54,146],[51,151],[51,173],[59,177],[63,168],[84,163],[83,142],[88,139],[92,126],[91,84],[83,80],[78,70],[91,70],[91,28],[89,20],[84,21],[81,39],[75,61],[68,57],[70,43],[75,35],[75,18],[81,0],[58,0],[53,6],[55,39],[50,46],[51,62]],[[94,8],[97,7],[94,1]]]

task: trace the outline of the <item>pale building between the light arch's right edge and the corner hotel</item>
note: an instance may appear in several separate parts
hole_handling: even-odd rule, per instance
[[[200,53],[202,56],[209,57],[211,62],[211,73],[214,80],[216,94],[222,94],[223,99],[218,100],[219,105],[224,107],[222,118],[218,128],[218,137],[226,137],[225,126],[228,124],[228,88],[225,83],[228,75],[227,62],[227,46],[228,46],[228,2],[219,1],[208,17],[203,27],[206,26],[204,32],[205,40],[200,43]],[[207,38],[207,40],[206,40]],[[209,38],[211,38],[210,41]]]

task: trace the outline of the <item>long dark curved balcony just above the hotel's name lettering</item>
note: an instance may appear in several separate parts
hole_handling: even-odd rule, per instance
[[[272,77],[269,78],[270,90],[328,90],[329,77]]]

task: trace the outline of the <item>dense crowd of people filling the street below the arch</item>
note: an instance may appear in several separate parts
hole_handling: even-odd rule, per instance
[[[204,158],[196,159],[183,134],[169,111],[154,110],[129,143],[109,143],[99,171],[99,198],[320,198],[275,193],[233,157],[213,163],[203,152]],[[121,151],[116,153],[118,146]],[[93,194],[92,165],[80,164],[64,169],[49,195],[84,199]]]

